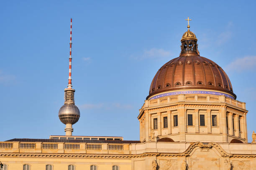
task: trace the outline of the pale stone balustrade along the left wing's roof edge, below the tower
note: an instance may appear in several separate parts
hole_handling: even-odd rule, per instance
[[[102,153],[128,154],[129,144],[0,142],[0,153]]]

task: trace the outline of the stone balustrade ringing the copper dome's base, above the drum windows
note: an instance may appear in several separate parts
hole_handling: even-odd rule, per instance
[[[174,102],[209,102],[209,103],[228,103],[230,105],[234,105],[243,109],[246,109],[246,103],[239,102],[238,100],[233,100],[229,97],[225,97],[224,95],[172,95],[166,97],[160,97],[152,100],[145,100],[143,107],[151,107],[156,105],[165,105],[168,103]],[[142,108],[143,108],[142,107]]]

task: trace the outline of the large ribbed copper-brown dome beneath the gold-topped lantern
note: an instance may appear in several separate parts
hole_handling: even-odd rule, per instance
[[[196,53],[182,53],[164,64],[151,82],[147,99],[161,92],[181,89],[217,90],[236,98],[224,70]]]

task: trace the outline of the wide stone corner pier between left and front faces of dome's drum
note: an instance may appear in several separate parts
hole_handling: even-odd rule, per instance
[[[179,141],[185,142],[186,141],[186,136],[185,136],[186,116],[185,116],[184,105],[180,106],[177,109],[177,111],[178,111]]]

